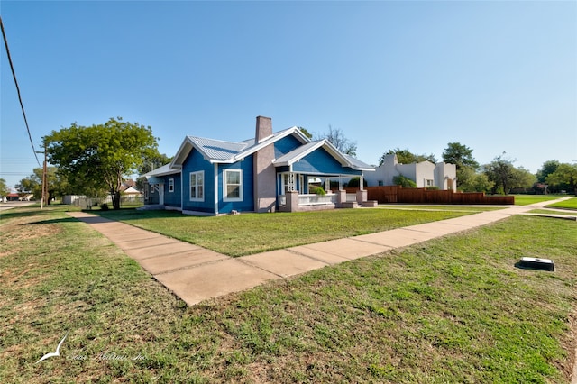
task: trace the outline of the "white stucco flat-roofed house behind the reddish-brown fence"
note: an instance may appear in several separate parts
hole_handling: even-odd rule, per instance
[[[425,160],[419,163],[399,164],[396,154],[385,156],[383,163],[368,174],[365,179],[369,187],[393,186],[393,178],[402,175],[415,181],[417,187],[438,187],[443,190],[457,190],[457,169],[454,164],[440,162],[433,164]]]

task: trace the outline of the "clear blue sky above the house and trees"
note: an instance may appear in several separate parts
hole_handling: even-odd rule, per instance
[[[0,3],[32,139],[109,117],[240,141],[329,124],[376,164],[448,142],[536,172],[577,161],[577,2]],[[37,167],[5,49],[0,177]]]

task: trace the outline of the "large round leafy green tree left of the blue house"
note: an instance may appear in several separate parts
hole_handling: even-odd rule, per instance
[[[44,142],[50,163],[60,167],[78,192],[92,195],[108,190],[114,209],[120,209],[124,177],[158,152],[151,127],[123,122],[121,117],[91,126],[73,123],[52,131]]]

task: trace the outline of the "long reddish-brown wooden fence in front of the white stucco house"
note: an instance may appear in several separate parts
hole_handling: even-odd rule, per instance
[[[345,188],[353,193],[358,188]],[[365,187],[367,198],[379,204],[464,204],[464,205],[511,205],[513,196],[485,196],[483,192],[453,192],[450,190],[429,190],[426,188],[403,188],[400,186]]]

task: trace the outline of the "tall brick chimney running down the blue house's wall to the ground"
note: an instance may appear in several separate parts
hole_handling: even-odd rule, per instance
[[[263,142],[272,136],[272,119],[270,117],[257,116],[256,143]],[[254,211],[274,212],[277,205],[276,169],[272,164],[274,160],[274,143],[261,148],[254,153]]]

